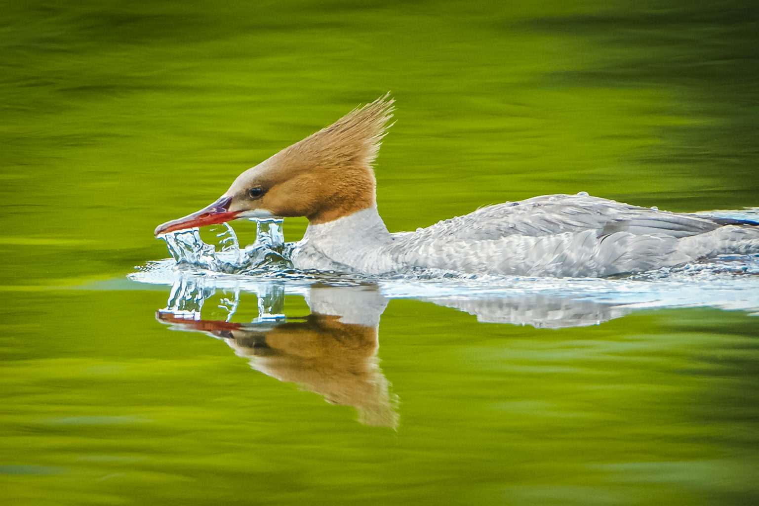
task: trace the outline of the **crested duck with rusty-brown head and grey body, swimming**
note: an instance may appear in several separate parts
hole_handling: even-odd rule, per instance
[[[216,201],[154,235],[239,219],[307,217],[291,261],[302,270],[382,276],[433,269],[609,277],[759,252],[759,223],[638,207],[587,193],[493,204],[391,233],[373,165],[391,125],[386,93],[245,170]]]

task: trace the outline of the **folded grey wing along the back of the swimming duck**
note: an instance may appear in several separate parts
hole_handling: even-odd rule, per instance
[[[596,230],[598,236],[629,232],[635,236],[660,234],[679,239],[717,228],[720,223],[691,214],[631,206],[583,194],[558,194],[483,207],[417,230],[414,236],[417,241],[442,238],[478,241]]]

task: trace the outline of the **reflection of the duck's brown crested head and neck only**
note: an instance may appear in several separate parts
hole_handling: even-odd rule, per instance
[[[259,293],[259,301],[281,307],[281,286],[269,285],[265,292]],[[329,403],[353,406],[361,423],[397,427],[397,401],[377,356],[379,315],[387,300],[376,286],[312,286],[307,296],[312,313],[307,317],[272,318],[263,313],[249,324],[195,319],[203,295],[207,298],[209,290],[184,283],[184,288],[172,290],[173,299],[156,317],[175,329],[225,340],[237,356],[265,375],[298,384]],[[196,308],[188,310],[183,301]]]

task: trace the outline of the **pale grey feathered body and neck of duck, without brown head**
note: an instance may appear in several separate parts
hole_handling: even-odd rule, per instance
[[[376,208],[309,226],[296,267],[366,274],[433,267],[466,273],[600,277],[759,251],[759,227],[723,225],[604,198],[546,195],[390,234]]]

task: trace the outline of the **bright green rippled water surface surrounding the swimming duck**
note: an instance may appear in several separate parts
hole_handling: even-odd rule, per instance
[[[537,298],[502,323],[403,292],[351,334],[304,286],[278,293],[282,327],[260,321],[273,289],[128,278],[167,256],[158,223],[388,90],[391,231],[559,192],[757,206],[753,2],[2,13],[0,504],[759,501],[755,292]],[[540,328],[559,310],[579,316]]]

